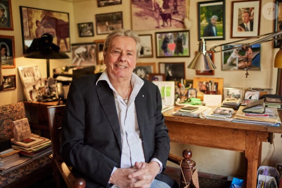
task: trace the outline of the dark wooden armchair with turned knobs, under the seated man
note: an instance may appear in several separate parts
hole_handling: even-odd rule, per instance
[[[84,188],[86,185],[85,180],[82,178],[76,178],[73,175],[71,168],[63,161],[60,154],[59,149],[61,146],[61,125],[64,108],[65,105],[47,107],[48,123],[53,149],[53,154],[50,155],[50,158],[52,159],[53,176],[55,178],[57,188],[62,188],[64,185],[66,185],[68,188]],[[189,163],[189,166],[187,165],[187,162],[182,162],[181,164],[186,183],[189,183],[192,181],[191,170],[193,170],[195,162],[190,159],[192,157],[192,152],[190,150],[184,150],[182,156]],[[178,165],[181,163],[182,159],[183,158],[174,154],[169,154],[168,157],[169,161]],[[180,177],[180,183],[178,180],[180,188],[186,186],[183,175]]]

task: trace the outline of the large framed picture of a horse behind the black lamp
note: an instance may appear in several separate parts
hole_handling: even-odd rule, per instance
[[[55,35],[53,43],[60,51],[71,51],[69,13],[19,6],[23,53],[34,38],[42,34]]]

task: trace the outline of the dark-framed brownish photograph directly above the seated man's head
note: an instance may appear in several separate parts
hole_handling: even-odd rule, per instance
[[[97,14],[96,33],[109,34],[113,30],[123,29],[123,12]]]

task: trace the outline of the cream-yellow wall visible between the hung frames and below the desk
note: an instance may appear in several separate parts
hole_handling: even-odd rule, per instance
[[[200,0],[206,1],[206,0]],[[154,52],[153,58],[140,58],[139,62],[183,62],[186,66],[194,57],[194,51],[197,51],[198,35],[197,35],[197,2],[191,1],[190,19],[194,20],[194,25],[190,30],[190,47],[191,57],[189,58],[156,58]],[[273,0],[262,0],[262,7],[267,2],[273,2]],[[46,77],[46,61],[37,59],[23,58],[22,54],[22,38],[20,29],[20,16],[19,6],[28,6],[34,8],[48,9],[53,11],[61,11],[70,13],[70,32],[71,43],[92,42],[96,39],[105,39],[106,35],[95,35],[93,37],[79,37],[77,32],[77,23],[93,22],[95,27],[95,14],[110,13],[123,11],[123,27],[124,29],[131,29],[131,5],[130,0],[123,0],[122,5],[97,7],[97,0],[12,0],[13,22],[14,31],[1,31],[1,35],[14,35],[15,36],[15,51],[16,51],[16,67],[21,66],[33,66],[38,65],[42,77]],[[226,0],[226,41],[235,41],[238,38],[230,38],[231,27],[231,1]],[[261,14],[260,22],[260,34],[270,33],[273,31],[273,20],[266,19]],[[162,31],[178,31],[182,29],[171,30],[158,30]],[[155,49],[155,32],[156,31],[140,31],[138,34],[152,34],[153,36],[153,49]],[[221,44],[226,41],[214,40],[207,41],[207,46],[212,44]],[[262,44],[261,53],[261,71],[249,71],[249,76],[246,78],[245,71],[222,71],[221,70],[221,52],[215,53],[215,65],[217,69],[213,77],[224,78],[225,87],[262,87],[273,88],[275,93],[276,81],[277,81],[277,68],[273,68],[274,57],[278,49],[273,49],[273,43],[268,42]],[[71,53],[68,53],[71,56]],[[51,70],[60,66],[71,65],[71,59],[66,60],[50,60]],[[157,71],[158,71],[158,66]],[[22,85],[18,77],[17,68],[3,69],[3,74],[16,74],[17,75],[17,89],[0,92],[0,105],[15,103],[23,100]],[[191,69],[185,70],[186,79],[193,79],[195,71]],[[51,76],[52,76],[51,71]],[[210,77],[210,76],[209,76]],[[280,135],[275,134],[275,151],[274,146],[268,143],[263,143],[262,160],[264,165],[273,166],[275,163],[282,163],[281,153],[282,145]],[[193,151],[193,158],[197,162],[197,169],[199,171],[211,172],[220,175],[242,175],[244,171],[244,155],[238,152],[231,152],[226,150],[204,148],[191,145],[182,145],[172,143],[171,152],[174,154],[181,154],[183,149],[189,148]],[[272,155],[273,153],[273,155]]]

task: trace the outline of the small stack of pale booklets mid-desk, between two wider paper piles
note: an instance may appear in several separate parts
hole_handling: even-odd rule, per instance
[[[208,120],[231,121],[235,111],[233,108],[217,107],[207,115]]]

